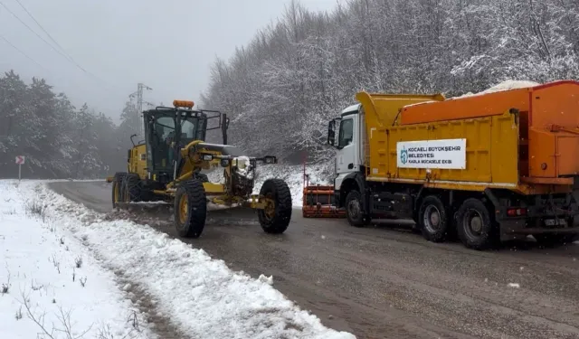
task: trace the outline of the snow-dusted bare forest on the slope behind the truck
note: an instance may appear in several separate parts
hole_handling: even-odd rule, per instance
[[[576,0],[349,0],[331,13],[292,2],[228,61],[204,105],[232,116],[254,153],[324,161],[327,121],[357,91],[478,92],[503,80],[579,76]]]

